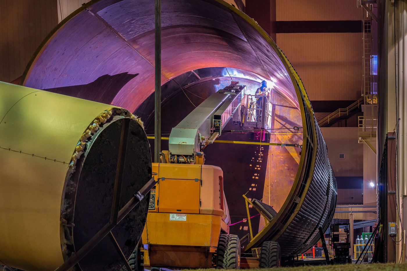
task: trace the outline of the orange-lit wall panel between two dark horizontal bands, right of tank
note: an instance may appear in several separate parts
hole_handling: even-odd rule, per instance
[[[277,45],[300,74],[311,101],[354,100],[361,95],[361,37],[361,33],[278,33]]]

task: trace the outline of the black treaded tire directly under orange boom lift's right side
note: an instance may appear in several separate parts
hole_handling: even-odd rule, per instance
[[[240,240],[237,235],[221,234],[219,236],[216,268],[240,269]]]

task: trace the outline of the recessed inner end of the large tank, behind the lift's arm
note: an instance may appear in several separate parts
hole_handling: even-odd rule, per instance
[[[177,76],[162,86],[162,134],[168,137],[171,129],[178,124],[195,106],[213,92],[234,81],[246,85],[245,94],[254,94],[263,79],[247,71],[233,68],[202,68]],[[229,74],[230,76],[229,76]],[[199,76],[199,77],[198,77]],[[272,83],[272,82],[269,82]],[[272,85],[270,85],[272,86]],[[182,88],[182,89],[181,89]],[[137,116],[145,116],[146,133],[154,134],[154,95],[152,94],[136,110]],[[225,127],[220,140],[244,142],[272,142],[302,144],[301,112],[283,94],[272,89],[270,101],[274,105],[272,127],[267,140],[254,140],[253,131],[243,131],[232,121]],[[174,110],[176,109],[176,110]],[[147,114],[149,113],[149,114]],[[236,112],[235,114],[239,114]],[[150,139],[153,151],[153,139]],[[162,140],[162,149],[168,149],[168,140]],[[232,144],[215,142],[204,149],[206,164],[223,169],[224,189],[230,206],[231,223],[243,220],[246,216],[245,201],[241,195],[247,193],[252,199],[262,199],[278,211],[293,185],[300,162],[300,148],[293,146],[270,146],[252,144]],[[239,157],[236,157],[239,154]],[[228,159],[225,159],[227,157]],[[239,185],[236,185],[239,184]],[[261,224],[259,225],[261,221]],[[252,221],[255,232],[264,226],[264,220],[255,217]],[[260,227],[259,227],[260,226]],[[232,225],[230,232],[243,237],[248,233],[248,223],[244,221]]]

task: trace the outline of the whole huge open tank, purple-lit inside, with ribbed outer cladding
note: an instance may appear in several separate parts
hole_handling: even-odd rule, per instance
[[[317,241],[318,226],[326,229],[330,223],[336,183],[298,74],[258,24],[221,0],[163,0],[161,16],[163,131],[169,133],[231,78],[246,85],[247,94],[254,94],[266,80],[272,90],[274,130],[264,140],[258,137],[258,142],[298,147],[214,142],[205,149],[206,163],[225,172],[232,224],[245,218],[242,195],[248,192],[250,199],[263,199],[279,211],[269,223],[276,225],[274,231],[267,229],[260,239],[285,238],[289,243],[284,256],[306,251]],[[140,115],[152,134],[153,18],[151,0],[84,4],[48,35],[28,64],[23,85],[124,107]],[[238,128],[228,123],[231,131],[220,139],[254,141],[253,133],[234,131]],[[162,149],[166,144],[162,140]],[[314,174],[317,151],[319,167]],[[313,186],[321,195],[307,196]],[[315,196],[321,207],[311,210]],[[305,231],[299,227],[304,223],[310,223]],[[254,219],[255,233],[264,226],[259,217]],[[242,237],[247,228],[240,223],[232,225],[231,232]],[[282,235],[284,231],[289,236]]]

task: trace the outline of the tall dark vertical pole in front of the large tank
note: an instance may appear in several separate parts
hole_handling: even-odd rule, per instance
[[[155,109],[154,162],[160,162],[161,151],[161,0],[155,0]]]

